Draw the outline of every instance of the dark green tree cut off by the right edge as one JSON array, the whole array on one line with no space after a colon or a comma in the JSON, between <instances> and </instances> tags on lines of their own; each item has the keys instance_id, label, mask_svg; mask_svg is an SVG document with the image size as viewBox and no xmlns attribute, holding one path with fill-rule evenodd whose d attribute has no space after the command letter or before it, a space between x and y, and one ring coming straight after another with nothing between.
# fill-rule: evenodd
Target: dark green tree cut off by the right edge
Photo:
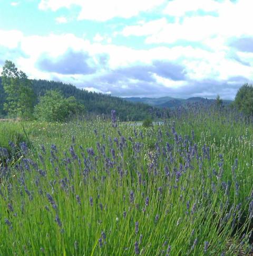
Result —
<instances>
[{"instance_id":1,"label":"dark green tree cut off by the right edge","mask_svg":"<svg viewBox=\"0 0 253 256\"><path fill-rule=\"evenodd\" d=\"M245 84L237 92L234 105L247 115L253 115L253 86Z\"/></svg>"}]
</instances>

